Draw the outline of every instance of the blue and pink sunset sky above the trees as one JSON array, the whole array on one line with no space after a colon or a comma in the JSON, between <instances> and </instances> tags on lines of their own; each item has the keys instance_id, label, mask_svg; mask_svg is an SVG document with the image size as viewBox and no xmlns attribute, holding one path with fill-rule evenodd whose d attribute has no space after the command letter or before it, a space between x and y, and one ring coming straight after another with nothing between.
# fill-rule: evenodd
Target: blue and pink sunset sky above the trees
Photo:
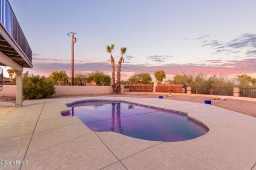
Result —
<instances>
[{"instance_id":1,"label":"blue and pink sunset sky above the trees","mask_svg":"<svg viewBox=\"0 0 256 170\"><path fill-rule=\"evenodd\" d=\"M110 74L106 45L115 44L116 63L127 47L123 79L162 69L167 78L256 77L256 1L9 1L33 50L30 73L70 73L67 33L74 31L76 72Z\"/></svg>"}]
</instances>

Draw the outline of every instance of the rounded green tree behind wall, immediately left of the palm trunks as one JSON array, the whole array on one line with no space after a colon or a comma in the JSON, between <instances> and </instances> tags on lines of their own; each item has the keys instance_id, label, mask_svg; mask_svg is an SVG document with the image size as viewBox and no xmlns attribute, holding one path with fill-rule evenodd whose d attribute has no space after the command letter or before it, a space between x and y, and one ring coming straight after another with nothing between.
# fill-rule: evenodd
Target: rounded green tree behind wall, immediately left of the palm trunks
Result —
<instances>
[{"instance_id":1,"label":"rounded green tree behind wall, immediately left of the palm trunks","mask_svg":"<svg viewBox=\"0 0 256 170\"><path fill-rule=\"evenodd\" d=\"M111 78L101 71L94 71L87 75L87 83L95 82L98 86L110 86Z\"/></svg>"}]
</instances>

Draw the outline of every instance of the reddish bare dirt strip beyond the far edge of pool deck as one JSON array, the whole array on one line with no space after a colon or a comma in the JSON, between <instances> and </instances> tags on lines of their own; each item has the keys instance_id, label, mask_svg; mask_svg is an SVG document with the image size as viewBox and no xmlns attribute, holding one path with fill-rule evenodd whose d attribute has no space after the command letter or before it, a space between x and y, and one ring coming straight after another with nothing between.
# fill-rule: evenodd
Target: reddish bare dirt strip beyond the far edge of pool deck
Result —
<instances>
[{"instance_id":1,"label":"reddish bare dirt strip beyond the far edge of pool deck","mask_svg":"<svg viewBox=\"0 0 256 170\"><path fill-rule=\"evenodd\" d=\"M84 97L90 97L91 95L87 95ZM94 95L95 96L95 95ZM99 95L102 96L102 95ZM158 95L141 95L141 94L122 94L122 95L104 95L104 96L116 96L116 97L141 97L141 98L158 98ZM58 98L66 98L66 97L82 97L82 96L63 96ZM172 100L182 100L182 101L192 101L196 103L204 103L204 100L210 99L212 100L212 105L229 109L231 111L243 113L246 115L256 117L256 101L245 101L245 100L234 100L234 99L226 99L226 100L218 100L209 97L191 97L191 96L163 96L165 99ZM55 97L56 98L56 97ZM15 98L13 97L0 97L0 101L9 101L15 102Z\"/></svg>"}]
</instances>

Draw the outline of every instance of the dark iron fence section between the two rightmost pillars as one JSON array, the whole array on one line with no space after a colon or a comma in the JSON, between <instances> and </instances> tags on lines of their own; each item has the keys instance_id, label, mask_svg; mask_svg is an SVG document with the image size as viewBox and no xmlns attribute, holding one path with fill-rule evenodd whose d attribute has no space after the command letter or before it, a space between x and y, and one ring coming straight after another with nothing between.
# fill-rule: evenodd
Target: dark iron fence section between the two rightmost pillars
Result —
<instances>
[{"instance_id":1,"label":"dark iron fence section between the two rightmost pillars","mask_svg":"<svg viewBox=\"0 0 256 170\"><path fill-rule=\"evenodd\" d=\"M191 94L233 96L233 87L191 87Z\"/></svg>"}]
</instances>

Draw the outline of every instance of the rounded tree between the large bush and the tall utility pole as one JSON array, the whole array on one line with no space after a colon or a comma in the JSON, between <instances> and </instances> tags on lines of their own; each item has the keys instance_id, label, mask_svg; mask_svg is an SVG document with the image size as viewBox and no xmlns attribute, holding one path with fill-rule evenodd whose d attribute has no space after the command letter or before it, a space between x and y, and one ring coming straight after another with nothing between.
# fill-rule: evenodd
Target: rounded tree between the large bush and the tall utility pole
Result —
<instances>
[{"instance_id":1,"label":"rounded tree between the large bush and the tall utility pole","mask_svg":"<svg viewBox=\"0 0 256 170\"><path fill-rule=\"evenodd\" d=\"M68 84L68 75L66 71L53 71L50 75L50 79L53 81L54 84L59 86L64 86Z\"/></svg>"}]
</instances>

